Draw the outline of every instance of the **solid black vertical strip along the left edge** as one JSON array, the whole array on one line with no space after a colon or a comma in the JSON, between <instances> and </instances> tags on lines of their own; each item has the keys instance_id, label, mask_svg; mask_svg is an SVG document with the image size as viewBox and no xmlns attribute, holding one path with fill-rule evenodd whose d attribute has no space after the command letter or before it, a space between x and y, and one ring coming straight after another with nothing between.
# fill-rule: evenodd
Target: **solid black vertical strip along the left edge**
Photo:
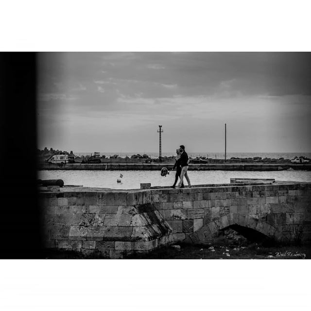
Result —
<instances>
[{"instance_id":1,"label":"solid black vertical strip along the left edge","mask_svg":"<svg viewBox=\"0 0 311 311\"><path fill-rule=\"evenodd\" d=\"M41 258L36 53L1 52L0 68L0 258Z\"/></svg>"}]
</instances>

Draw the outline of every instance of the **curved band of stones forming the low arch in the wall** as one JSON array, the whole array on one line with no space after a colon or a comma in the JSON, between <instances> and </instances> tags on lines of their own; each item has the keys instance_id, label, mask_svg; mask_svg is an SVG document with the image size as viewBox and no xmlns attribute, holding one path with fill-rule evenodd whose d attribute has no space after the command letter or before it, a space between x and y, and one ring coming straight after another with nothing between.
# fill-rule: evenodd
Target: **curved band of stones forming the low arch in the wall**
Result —
<instances>
[{"instance_id":1,"label":"curved band of stones forming the low arch in the wall","mask_svg":"<svg viewBox=\"0 0 311 311\"><path fill-rule=\"evenodd\" d=\"M264 221L249 215L229 213L210 221L200 229L191 233L183 242L194 244L207 243L208 240L216 236L219 230L222 230L230 225L240 225L242 227L250 228L275 240L279 240L281 237L280 232L275 227Z\"/></svg>"}]
</instances>

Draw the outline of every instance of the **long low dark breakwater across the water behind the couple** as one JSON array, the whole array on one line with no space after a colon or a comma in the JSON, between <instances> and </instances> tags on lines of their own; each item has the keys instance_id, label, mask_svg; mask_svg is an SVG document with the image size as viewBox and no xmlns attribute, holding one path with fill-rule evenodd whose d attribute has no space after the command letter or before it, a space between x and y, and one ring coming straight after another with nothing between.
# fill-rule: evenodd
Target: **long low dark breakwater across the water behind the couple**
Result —
<instances>
[{"instance_id":1,"label":"long low dark breakwater across the water behind the couple","mask_svg":"<svg viewBox=\"0 0 311 311\"><path fill-rule=\"evenodd\" d=\"M173 161L162 163L141 163L141 162L106 162L99 164L58 164L39 163L39 170L116 170L116 171L160 171L163 167L173 168ZM311 164L294 163L207 163L190 164L190 171L280 171L280 170L306 170L311 171Z\"/></svg>"}]
</instances>

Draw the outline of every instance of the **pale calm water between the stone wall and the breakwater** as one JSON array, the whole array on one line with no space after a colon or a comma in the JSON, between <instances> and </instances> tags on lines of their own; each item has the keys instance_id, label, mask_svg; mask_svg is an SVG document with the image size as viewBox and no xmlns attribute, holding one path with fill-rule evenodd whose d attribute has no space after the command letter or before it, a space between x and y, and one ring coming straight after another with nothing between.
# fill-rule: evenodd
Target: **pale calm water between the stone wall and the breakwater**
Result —
<instances>
[{"instance_id":1,"label":"pale calm water between the stone wall and the breakwater","mask_svg":"<svg viewBox=\"0 0 311 311\"><path fill-rule=\"evenodd\" d=\"M276 172L242 172L242 171L189 171L192 185L230 183L230 178L274 178L282 181L311 182L311 171L276 171ZM122 183L117 183L120 178ZM39 179L62 179L65 185L83 185L111 189L139 189L140 183L152 186L171 186L175 171L162 177L160 171L39 171ZM185 180L187 185L187 181Z\"/></svg>"}]
</instances>

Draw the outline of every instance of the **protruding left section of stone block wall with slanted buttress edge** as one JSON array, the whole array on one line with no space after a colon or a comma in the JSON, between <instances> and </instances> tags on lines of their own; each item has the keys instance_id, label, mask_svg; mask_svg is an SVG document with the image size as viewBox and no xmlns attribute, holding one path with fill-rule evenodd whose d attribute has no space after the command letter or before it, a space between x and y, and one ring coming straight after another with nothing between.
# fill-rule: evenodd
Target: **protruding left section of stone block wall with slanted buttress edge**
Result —
<instances>
[{"instance_id":1,"label":"protruding left section of stone block wall with slanted buttress edge","mask_svg":"<svg viewBox=\"0 0 311 311\"><path fill-rule=\"evenodd\" d=\"M173 242L150 191L42 192L45 248L122 258Z\"/></svg>"}]
</instances>

